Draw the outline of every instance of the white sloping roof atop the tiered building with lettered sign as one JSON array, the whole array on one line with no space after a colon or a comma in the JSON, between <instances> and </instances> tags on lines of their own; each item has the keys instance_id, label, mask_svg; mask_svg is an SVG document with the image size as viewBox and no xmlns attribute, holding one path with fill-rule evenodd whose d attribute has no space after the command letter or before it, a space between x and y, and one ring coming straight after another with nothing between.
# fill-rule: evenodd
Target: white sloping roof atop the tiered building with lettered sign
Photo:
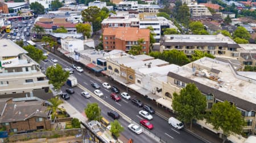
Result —
<instances>
[{"instance_id":1,"label":"white sloping roof atop the tiered building with lettered sign","mask_svg":"<svg viewBox=\"0 0 256 143\"><path fill-rule=\"evenodd\" d=\"M16 57L19 54L27 54L27 51L7 39L0 40L0 57Z\"/></svg>"}]
</instances>

